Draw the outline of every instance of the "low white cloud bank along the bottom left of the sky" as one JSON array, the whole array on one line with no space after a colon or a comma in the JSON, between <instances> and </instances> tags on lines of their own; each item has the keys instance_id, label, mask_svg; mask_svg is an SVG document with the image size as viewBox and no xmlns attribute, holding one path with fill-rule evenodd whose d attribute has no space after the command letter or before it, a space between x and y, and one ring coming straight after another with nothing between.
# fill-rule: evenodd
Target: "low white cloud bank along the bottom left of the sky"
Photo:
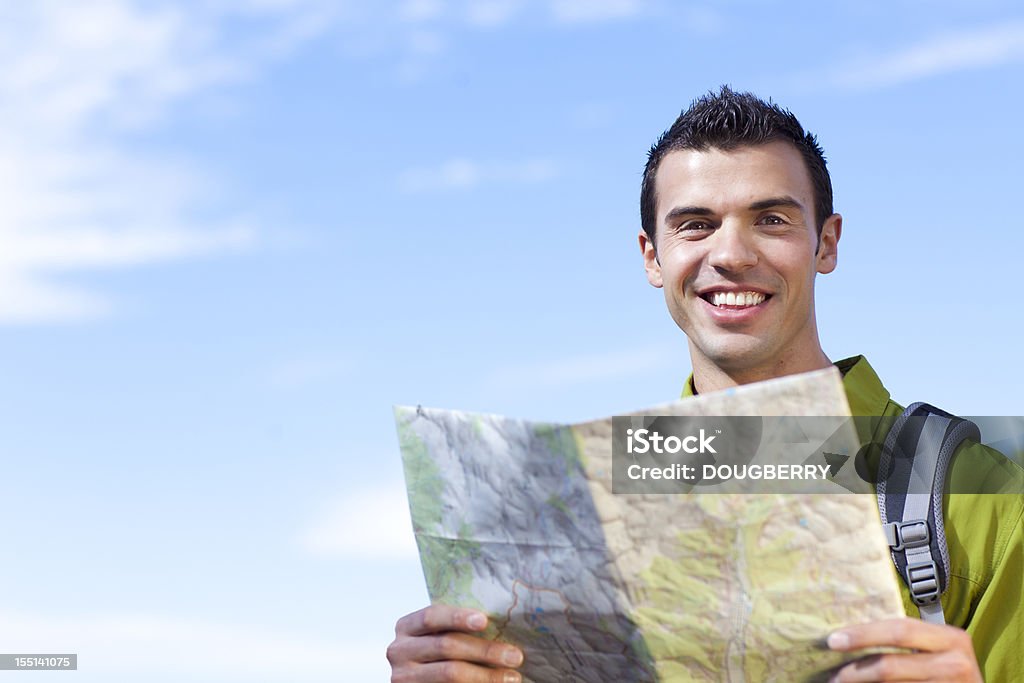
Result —
<instances>
[{"instance_id":1,"label":"low white cloud bank along the bottom left of the sky","mask_svg":"<svg viewBox=\"0 0 1024 683\"><path fill-rule=\"evenodd\" d=\"M77 653L79 679L88 680L347 681L386 672L376 641L150 614L0 612L0 642L12 652Z\"/></svg>"}]
</instances>

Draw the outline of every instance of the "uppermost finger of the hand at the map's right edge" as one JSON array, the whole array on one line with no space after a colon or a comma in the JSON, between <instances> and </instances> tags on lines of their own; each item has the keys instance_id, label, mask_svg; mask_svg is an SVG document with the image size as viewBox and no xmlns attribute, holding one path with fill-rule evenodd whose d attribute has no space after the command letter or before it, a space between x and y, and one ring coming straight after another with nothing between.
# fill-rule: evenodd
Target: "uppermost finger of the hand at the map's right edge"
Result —
<instances>
[{"instance_id":1,"label":"uppermost finger of the hand at the map's right edge","mask_svg":"<svg viewBox=\"0 0 1024 683\"><path fill-rule=\"evenodd\" d=\"M971 637L962 629L907 617L849 626L828 636L828 647L843 652L886 646L926 652L974 651Z\"/></svg>"}]
</instances>

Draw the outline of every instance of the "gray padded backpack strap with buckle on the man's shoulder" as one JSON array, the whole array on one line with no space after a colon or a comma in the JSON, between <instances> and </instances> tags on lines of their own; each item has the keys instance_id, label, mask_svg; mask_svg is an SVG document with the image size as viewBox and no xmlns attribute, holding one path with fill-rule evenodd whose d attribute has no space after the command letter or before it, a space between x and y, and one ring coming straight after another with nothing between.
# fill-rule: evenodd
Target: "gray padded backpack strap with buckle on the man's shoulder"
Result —
<instances>
[{"instance_id":1,"label":"gray padded backpack strap with buckle on the man's shoulder","mask_svg":"<svg viewBox=\"0 0 1024 683\"><path fill-rule=\"evenodd\" d=\"M939 596L949 584L942 492L953 453L981 441L978 426L913 403L889 430L879 461L879 513L899 575L926 622L944 624Z\"/></svg>"}]
</instances>

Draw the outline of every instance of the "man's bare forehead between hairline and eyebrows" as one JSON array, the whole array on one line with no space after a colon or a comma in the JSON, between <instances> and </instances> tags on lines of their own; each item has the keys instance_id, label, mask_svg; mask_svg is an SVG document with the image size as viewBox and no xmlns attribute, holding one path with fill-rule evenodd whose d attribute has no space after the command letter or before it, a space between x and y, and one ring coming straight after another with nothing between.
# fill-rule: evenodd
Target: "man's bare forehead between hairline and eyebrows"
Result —
<instances>
[{"instance_id":1,"label":"man's bare forehead between hairline and eyebrows","mask_svg":"<svg viewBox=\"0 0 1024 683\"><path fill-rule=\"evenodd\" d=\"M790 142L723 151L676 150L662 160L654 180L657 220L673 208L705 207L728 213L770 198L792 197L808 212L813 188L803 157Z\"/></svg>"}]
</instances>

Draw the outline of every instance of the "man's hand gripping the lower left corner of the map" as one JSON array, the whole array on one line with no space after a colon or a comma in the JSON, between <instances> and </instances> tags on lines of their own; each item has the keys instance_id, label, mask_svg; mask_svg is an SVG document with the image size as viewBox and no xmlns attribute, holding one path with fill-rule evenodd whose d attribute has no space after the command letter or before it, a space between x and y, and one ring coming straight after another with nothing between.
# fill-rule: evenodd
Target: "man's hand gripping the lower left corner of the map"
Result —
<instances>
[{"instance_id":1,"label":"man's hand gripping the lower left corner of the map","mask_svg":"<svg viewBox=\"0 0 1024 683\"><path fill-rule=\"evenodd\" d=\"M522 652L470 635L487 628L475 609L432 605L398 620L388 645L391 683L519 683Z\"/></svg>"}]
</instances>

